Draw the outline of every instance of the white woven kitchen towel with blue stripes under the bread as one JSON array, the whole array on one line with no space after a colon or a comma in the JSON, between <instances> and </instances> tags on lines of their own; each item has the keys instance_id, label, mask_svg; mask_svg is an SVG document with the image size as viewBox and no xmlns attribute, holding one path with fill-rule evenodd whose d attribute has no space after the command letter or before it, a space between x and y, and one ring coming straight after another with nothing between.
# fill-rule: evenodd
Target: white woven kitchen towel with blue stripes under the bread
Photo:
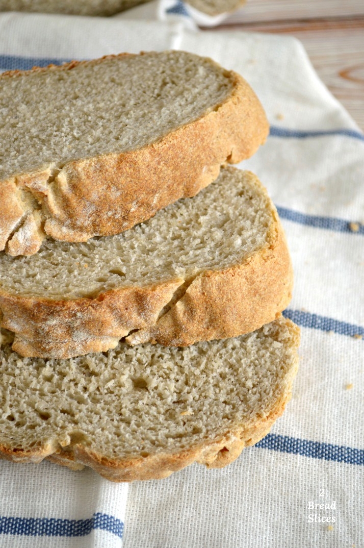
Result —
<instances>
[{"instance_id":1,"label":"white woven kitchen towel with blue stripes under the bread","mask_svg":"<svg viewBox=\"0 0 364 548\"><path fill-rule=\"evenodd\" d=\"M267 111L267 143L241 167L268 187L291 249L285 314L302 327L292 401L226 469L193 465L132 483L125 518L125 487L91 470L0 461L0 547L120 546L124 522L124 548L362 548L363 134L292 38L168 20L0 16L2 70L169 47L234 68Z\"/></svg>"}]
</instances>

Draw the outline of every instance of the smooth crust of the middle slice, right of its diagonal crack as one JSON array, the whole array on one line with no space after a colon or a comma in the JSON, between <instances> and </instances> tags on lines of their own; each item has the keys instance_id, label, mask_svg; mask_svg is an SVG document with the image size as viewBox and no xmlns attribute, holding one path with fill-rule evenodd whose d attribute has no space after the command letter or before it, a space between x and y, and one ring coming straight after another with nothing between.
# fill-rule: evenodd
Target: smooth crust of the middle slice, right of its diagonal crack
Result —
<instances>
[{"instance_id":1,"label":"smooth crust of the middle slice, right of its diagonal crack","mask_svg":"<svg viewBox=\"0 0 364 548\"><path fill-rule=\"evenodd\" d=\"M293 270L278 215L268 242L243 264L208 271L193 280L183 297L151 328L126 340L188 346L255 331L279 316L292 297Z\"/></svg>"}]
</instances>

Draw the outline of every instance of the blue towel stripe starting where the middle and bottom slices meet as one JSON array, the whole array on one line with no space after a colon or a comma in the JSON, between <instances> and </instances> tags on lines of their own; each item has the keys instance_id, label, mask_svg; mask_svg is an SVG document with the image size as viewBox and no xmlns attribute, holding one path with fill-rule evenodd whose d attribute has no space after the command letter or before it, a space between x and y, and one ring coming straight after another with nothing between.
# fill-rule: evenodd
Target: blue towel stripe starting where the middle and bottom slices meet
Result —
<instances>
[{"instance_id":1,"label":"blue towel stripe starting where the middle and bottom slices meet","mask_svg":"<svg viewBox=\"0 0 364 548\"><path fill-rule=\"evenodd\" d=\"M283 315L301 327L320 329L321 331L333 331L339 335L349 337L358 335L364 338L364 327L355 326L353 323L340 322L338 319L319 316L318 314L303 312L301 310L286 309Z\"/></svg>"}]
</instances>

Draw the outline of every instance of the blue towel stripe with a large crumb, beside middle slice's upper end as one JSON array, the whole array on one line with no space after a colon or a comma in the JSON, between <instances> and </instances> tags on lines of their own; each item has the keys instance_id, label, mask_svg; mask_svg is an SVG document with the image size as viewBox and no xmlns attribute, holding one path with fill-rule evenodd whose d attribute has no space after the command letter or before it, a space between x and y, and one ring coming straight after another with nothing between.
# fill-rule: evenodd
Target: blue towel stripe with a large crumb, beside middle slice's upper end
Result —
<instances>
[{"instance_id":1,"label":"blue towel stripe with a large crumb, beside middle slice's upper end","mask_svg":"<svg viewBox=\"0 0 364 548\"><path fill-rule=\"evenodd\" d=\"M364 225L360 222L346 221L345 219L338 219L336 217L307 215L279 206L276 206L276 208L281 219L297 222L300 225L313 226L316 229L333 230L335 232L364 235Z\"/></svg>"}]
</instances>

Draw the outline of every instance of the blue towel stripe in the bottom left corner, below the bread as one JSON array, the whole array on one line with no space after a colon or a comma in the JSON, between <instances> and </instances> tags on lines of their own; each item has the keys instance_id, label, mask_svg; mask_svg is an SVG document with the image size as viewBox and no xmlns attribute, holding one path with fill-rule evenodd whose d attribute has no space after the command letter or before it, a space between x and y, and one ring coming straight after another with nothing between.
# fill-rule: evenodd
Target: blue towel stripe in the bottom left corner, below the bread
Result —
<instances>
[{"instance_id":1,"label":"blue towel stripe in the bottom left corner, below the bread","mask_svg":"<svg viewBox=\"0 0 364 548\"><path fill-rule=\"evenodd\" d=\"M0 516L0 534L25 536L86 536L93 529L103 529L123 538L124 523L100 512L88 520L61 518L25 518Z\"/></svg>"}]
</instances>

